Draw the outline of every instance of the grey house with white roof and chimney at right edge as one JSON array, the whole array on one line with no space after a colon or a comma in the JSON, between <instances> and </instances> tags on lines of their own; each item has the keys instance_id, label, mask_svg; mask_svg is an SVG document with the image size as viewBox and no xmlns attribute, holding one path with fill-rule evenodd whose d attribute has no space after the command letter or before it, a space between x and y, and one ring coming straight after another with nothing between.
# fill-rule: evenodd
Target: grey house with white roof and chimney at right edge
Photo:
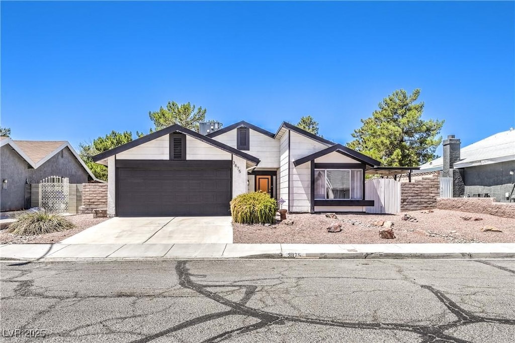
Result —
<instances>
[{"instance_id":1,"label":"grey house with white roof and chimney at right edge","mask_svg":"<svg viewBox=\"0 0 515 343\"><path fill-rule=\"evenodd\" d=\"M453 178L453 196L495 198L508 202L515 196L515 130L499 132L460 148L450 135L443 141L443 156L420 166L420 173L440 171ZM513 201L513 200L511 200Z\"/></svg>"}]
</instances>

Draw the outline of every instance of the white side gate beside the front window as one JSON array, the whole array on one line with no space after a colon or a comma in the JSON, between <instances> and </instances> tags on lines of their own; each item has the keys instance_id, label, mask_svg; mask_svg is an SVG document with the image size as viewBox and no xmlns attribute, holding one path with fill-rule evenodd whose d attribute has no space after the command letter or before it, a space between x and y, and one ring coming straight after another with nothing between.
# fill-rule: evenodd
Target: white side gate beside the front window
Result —
<instances>
[{"instance_id":1,"label":"white side gate beside the front window","mask_svg":"<svg viewBox=\"0 0 515 343\"><path fill-rule=\"evenodd\" d=\"M374 200L367 213L401 212L401 183L393 179L371 179L365 182L365 199Z\"/></svg>"}]
</instances>

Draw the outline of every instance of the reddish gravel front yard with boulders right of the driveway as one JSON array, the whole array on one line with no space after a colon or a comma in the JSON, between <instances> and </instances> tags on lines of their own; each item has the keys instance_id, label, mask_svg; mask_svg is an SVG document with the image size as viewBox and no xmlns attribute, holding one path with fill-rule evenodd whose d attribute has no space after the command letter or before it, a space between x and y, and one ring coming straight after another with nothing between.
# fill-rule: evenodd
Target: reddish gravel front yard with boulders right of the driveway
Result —
<instances>
[{"instance_id":1,"label":"reddish gravel front yard with boulders right of the driveway","mask_svg":"<svg viewBox=\"0 0 515 343\"><path fill-rule=\"evenodd\" d=\"M285 222L271 226L233 223L234 243L329 243L329 244L382 244L382 243L515 243L515 220L484 213L447 210L403 212L397 215L362 213L337 214L337 219L325 214L288 214ZM416 221L402 220L404 214ZM461 217L471 217L464 220ZM482 218L482 220L473 220ZM382 239L373 221L393 222L394 239ZM341 223L340 232L328 232L327 227ZM502 232L481 231L490 226Z\"/></svg>"}]
</instances>

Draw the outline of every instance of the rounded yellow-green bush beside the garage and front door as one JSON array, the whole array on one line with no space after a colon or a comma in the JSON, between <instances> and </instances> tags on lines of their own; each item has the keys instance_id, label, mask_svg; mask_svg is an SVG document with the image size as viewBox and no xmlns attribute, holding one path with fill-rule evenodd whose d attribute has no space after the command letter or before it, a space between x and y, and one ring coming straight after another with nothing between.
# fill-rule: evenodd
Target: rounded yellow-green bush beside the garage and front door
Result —
<instances>
[{"instance_id":1,"label":"rounded yellow-green bush beside the garage and front door","mask_svg":"<svg viewBox=\"0 0 515 343\"><path fill-rule=\"evenodd\" d=\"M241 224L273 224L277 201L261 191L240 194L231 200L232 220Z\"/></svg>"}]
</instances>

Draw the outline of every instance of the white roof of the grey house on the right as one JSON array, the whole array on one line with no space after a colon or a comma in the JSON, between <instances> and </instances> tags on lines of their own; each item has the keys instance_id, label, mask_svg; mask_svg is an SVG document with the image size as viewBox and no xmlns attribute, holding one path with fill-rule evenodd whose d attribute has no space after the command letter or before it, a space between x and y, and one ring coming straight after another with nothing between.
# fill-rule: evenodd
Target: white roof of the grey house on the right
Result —
<instances>
[{"instance_id":1,"label":"white roof of the grey house on the right","mask_svg":"<svg viewBox=\"0 0 515 343\"><path fill-rule=\"evenodd\" d=\"M515 160L515 130L508 130L491 135L460 149L460 160L455 168ZM443 169L443 157L424 163L420 171Z\"/></svg>"}]
</instances>

